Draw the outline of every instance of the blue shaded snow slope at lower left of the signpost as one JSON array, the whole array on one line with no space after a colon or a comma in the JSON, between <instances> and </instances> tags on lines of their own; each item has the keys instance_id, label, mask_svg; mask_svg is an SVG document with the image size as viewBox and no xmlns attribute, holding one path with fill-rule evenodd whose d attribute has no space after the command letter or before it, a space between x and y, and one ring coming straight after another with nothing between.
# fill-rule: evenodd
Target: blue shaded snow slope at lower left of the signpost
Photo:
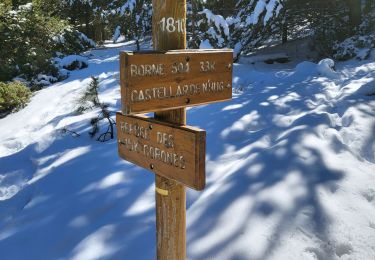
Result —
<instances>
[{"instance_id":1,"label":"blue shaded snow slope at lower left of the signpost","mask_svg":"<svg viewBox=\"0 0 375 260\"><path fill-rule=\"evenodd\" d=\"M155 247L154 176L120 161L114 141L67 137L42 153L31 145L0 158L6 172L20 163L33 174L23 176L28 182L14 197L0 201L4 259L135 258L143 246ZM154 250L144 256L153 258Z\"/></svg>"}]
</instances>

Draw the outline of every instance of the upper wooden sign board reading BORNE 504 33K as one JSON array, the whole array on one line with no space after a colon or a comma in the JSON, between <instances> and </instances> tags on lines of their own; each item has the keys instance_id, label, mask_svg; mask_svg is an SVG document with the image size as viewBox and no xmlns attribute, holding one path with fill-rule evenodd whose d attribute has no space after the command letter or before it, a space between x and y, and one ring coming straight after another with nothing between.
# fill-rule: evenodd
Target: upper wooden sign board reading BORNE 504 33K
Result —
<instances>
[{"instance_id":1,"label":"upper wooden sign board reading BORNE 504 33K","mask_svg":"<svg viewBox=\"0 0 375 260\"><path fill-rule=\"evenodd\" d=\"M122 52L120 59L124 114L232 98L232 50Z\"/></svg>"}]
</instances>

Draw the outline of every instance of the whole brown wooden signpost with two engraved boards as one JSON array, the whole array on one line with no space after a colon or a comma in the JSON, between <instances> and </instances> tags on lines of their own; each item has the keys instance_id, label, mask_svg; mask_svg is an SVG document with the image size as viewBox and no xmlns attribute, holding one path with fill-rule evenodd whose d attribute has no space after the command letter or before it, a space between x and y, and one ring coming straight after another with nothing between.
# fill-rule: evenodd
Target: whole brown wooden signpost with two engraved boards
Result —
<instances>
[{"instance_id":1,"label":"whole brown wooden signpost with two engraved boards","mask_svg":"<svg viewBox=\"0 0 375 260\"><path fill-rule=\"evenodd\" d=\"M118 149L155 173L157 259L185 259L185 187L204 189L206 148L206 132L186 126L186 107L232 98L233 52L184 50L186 0L152 4L155 51L120 54ZM154 119L136 115L146 112Z\"/></svg>"}]
</instances>

